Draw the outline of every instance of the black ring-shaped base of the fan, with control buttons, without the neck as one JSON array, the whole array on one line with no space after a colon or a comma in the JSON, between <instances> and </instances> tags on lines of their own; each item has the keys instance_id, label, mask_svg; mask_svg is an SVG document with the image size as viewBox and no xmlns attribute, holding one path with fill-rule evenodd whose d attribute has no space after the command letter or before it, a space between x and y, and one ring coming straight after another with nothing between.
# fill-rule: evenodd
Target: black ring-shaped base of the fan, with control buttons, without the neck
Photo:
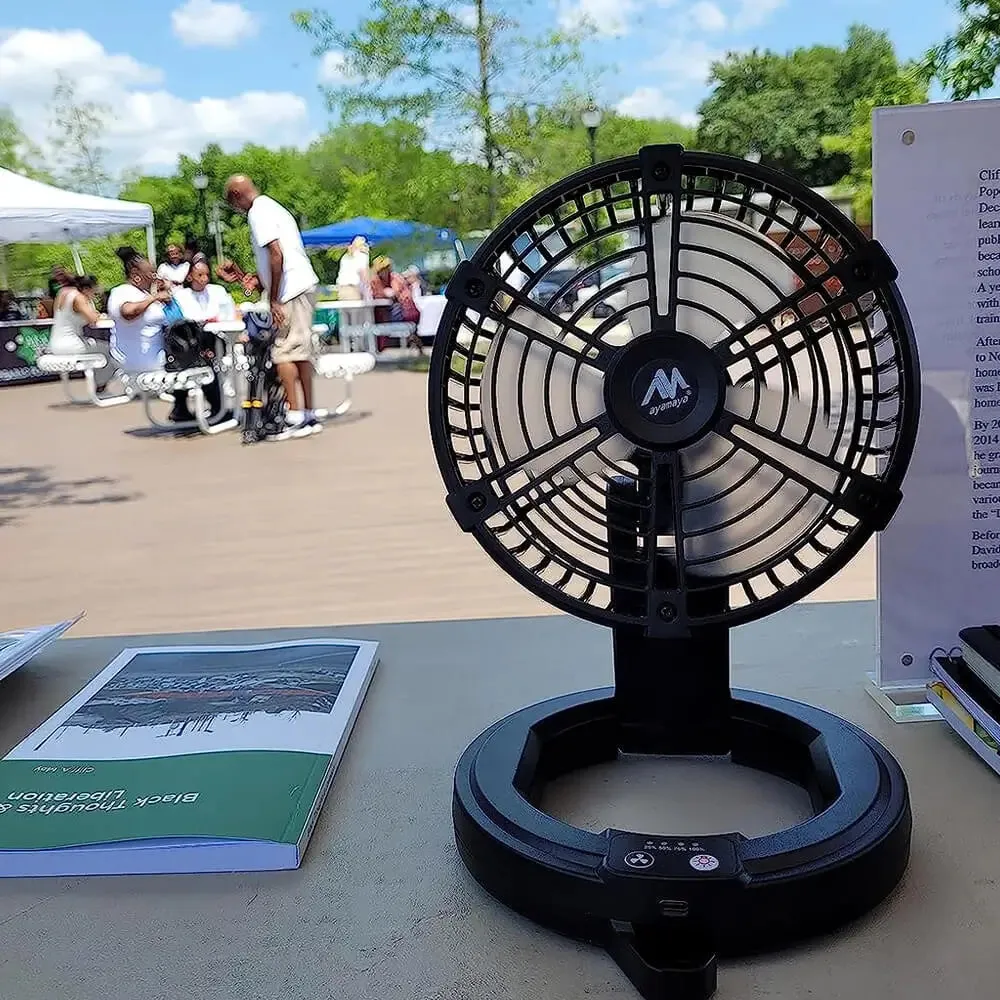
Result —
<instances>
[{"instance_id":1,"label":"black ring-shaped base of the fan, with control buttons, without the neck","mask_svg":"<svg viewBox=\"0 0 1000 1000\"><path fill-rule=\"evenodd\" d=\"M592 833L532 805L542 786L618 755L614 689L522 709L455 774L459 853L491 895L606 948L646 1000L704 1000L716 956L774 950L866 913L910 850L906 779L867 733L784 698L733 692L731 758L802 785L816 815L748 839Z\"/></svg>"}]
</instances>

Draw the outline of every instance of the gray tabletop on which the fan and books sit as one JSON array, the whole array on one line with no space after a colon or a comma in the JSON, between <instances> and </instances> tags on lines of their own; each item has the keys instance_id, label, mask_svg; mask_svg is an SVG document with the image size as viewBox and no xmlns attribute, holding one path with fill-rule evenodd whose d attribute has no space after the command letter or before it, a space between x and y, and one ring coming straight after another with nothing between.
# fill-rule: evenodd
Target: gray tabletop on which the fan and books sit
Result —
<instances>
[{"instance_id":1,"label":"gray tabletop on which the fan and books sit","mask_svg":"<svg viewBox=\"0 0 1000 1000\"><path fill-rule=\"evenodd\" d=\"M452 841L455 762L529 702L610 683L606 631L517 620L64 639L0 685L6 752L120 649L341 635L381 666L298 871L0 883L3 1000L589 1000L635 993L600 950L487 897ZM720 967L719 1000L961 1000L996 993L1000 782L939 722L894 725L863 691L874 606L815 604L737 630L734 682L864 726L903 764L914 809L902 886L869 917ZM554 787L575 822L748 834L793 822L800 793L753 772L598 769Z\"/></svg>"}]
</instances>

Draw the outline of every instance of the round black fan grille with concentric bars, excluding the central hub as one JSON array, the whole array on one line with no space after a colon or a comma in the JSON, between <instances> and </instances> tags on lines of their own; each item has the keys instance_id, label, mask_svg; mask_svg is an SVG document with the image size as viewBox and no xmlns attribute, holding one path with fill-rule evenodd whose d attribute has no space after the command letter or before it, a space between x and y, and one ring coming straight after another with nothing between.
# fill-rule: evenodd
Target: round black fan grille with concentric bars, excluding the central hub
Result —
<instances>
[{"instance_id":1,"label":"round black fan grille with concentric bars, excluding the central hub","mask_svg":"<svg viewBox=\"0 0 1000 1000\"><path fill-rule=\"evenodd\" d=\"M760 309L715 276L746 263L686 242L689 221L701 233L752 227L798 287L753 275L773 299ZM657 225L671 227L667 267ZM566 305L609 270L616 280ZM738 624L800 599L898 502L919 377L894 278L842 213L760 165L649 147L568 178L507 219L449 287L430 373L449 506L528 589L592 621ZM701 294L713 284L728 312ZM622 344L664 321L711 327L730 386L696 453L623 448L607 413L584 405ZM508 363L505 343L520 348ZM523 379L531 352L541 392ZM563 413L550 405L556 378L571 387ZM499 413L500 393L516 398L513 418ZM788 520L769 525L778 491ZM635 538L624 555L616 532Z\"/></svg>"}]
</instances>

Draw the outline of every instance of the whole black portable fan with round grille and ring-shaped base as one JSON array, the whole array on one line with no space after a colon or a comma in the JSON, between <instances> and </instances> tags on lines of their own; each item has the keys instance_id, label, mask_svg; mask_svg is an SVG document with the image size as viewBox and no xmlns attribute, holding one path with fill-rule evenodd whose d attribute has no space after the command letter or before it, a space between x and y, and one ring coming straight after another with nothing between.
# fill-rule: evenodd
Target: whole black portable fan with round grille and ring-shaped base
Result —
<instances>
[{"instance_id":1,"label":"whole black portable fan with round grille and ring-shaped base","mask_svg":"<svg viewBox=\"0 0 1000 1000\"><path fill-rule=\"evenodd\" d=\"M730 627L829 579L901 499L919 374L895 279L792 178L656 146L535 197L449 284L430 370L448 505L529 590L611 627L615 679L469 746L458 848L644 997L708 997L716 956L840 926L906 868L892 756L729 681ZM619 754L729 756L804 786L815 815L681 838L537 807L545 782Z\"/></svg>"}]
</instances>

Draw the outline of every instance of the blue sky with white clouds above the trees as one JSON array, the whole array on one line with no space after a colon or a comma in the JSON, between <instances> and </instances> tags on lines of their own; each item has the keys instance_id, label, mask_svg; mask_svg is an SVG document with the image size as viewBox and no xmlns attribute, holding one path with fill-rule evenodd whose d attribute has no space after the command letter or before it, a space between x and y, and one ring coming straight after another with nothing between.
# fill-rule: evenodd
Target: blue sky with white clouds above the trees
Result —
<instances>
[{"instance_id":1,"label":"blue sky with white clouds above the trees","mask_svg":"<svg viewBox=\"0 0 1000 1000\"><path fill-rule=\"evenodd\" d=\"M306 3L323 0L306 0ZM322 95L338 53L320 58L291 23L288 0L0 0L0 104L43 148L59 74L81 100L112 110L105 146L115 170L166 173L208 142L305 145L330 123ZM328 0L350 28L366 0ZM695 120L712 60L754 47L784 52L843 44L848 26L889 32L919 56L956 23L952 0L533 0L538 29L597 29L588 61L610 67L604 107Z\"/></svg>"}]
</instances>

